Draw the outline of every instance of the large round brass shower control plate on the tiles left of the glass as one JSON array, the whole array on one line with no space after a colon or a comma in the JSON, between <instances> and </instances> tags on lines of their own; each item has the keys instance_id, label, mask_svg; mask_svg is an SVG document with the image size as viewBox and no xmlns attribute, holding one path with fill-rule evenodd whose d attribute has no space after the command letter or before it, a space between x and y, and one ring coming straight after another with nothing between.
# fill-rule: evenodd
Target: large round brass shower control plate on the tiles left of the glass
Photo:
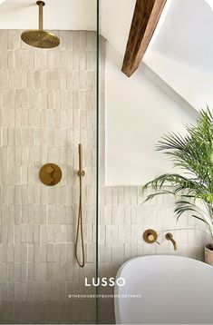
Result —
<instances>
[{"instance_id":1,"label":"large round brass shower control plate on the tiles left of the glass","mask_svg":"<svg viewBox=\"0 0 213 325\"><path fill-rule=\"evenodd\" d=\"M58 182L61 181L63 176L63 172L61 168L56 165L55 163L46 163L40 169L39 178L40 181L47 186L56 185Z\"/></svg>"}]
</instances>

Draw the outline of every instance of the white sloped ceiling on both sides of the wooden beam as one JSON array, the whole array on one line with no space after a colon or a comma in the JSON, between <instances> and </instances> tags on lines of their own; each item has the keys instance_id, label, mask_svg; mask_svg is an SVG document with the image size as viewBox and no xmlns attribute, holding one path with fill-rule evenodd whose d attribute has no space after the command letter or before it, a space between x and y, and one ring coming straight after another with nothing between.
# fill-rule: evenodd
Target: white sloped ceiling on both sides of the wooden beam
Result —
<instances>
[{"instance_id":1,"label":"white sloped ceiling on both sides of the wooden beam","mask_svg":"<svg viewBox=\"0 0 213 325\"><path fill-rule=\"evenodd\" d=\"M121 55L135 3L102 0L102 35ZM150 68L152 81L163 83L168 94L178 94L190 110L213 106L212 57L213 0L167 0L142 62Z\"/></svg>"}]
</instances>

